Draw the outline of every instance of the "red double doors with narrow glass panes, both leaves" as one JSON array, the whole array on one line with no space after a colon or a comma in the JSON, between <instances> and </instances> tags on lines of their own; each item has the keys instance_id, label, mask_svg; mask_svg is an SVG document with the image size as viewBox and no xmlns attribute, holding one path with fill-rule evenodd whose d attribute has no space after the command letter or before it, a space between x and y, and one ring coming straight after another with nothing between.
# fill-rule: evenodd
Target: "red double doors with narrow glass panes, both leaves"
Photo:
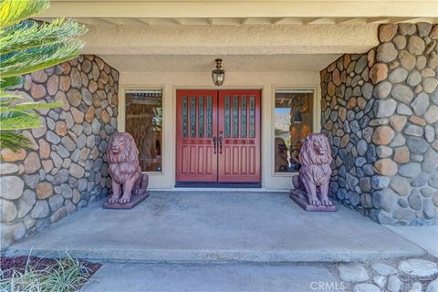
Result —
<instances>
[{"instance_id":1,"label":"red double doors with narrow glass panes, both leaves","mask_svg":"<svg viewBox=\"0 0 438 292\"><path fill-rule=\"evenodd\" d=\"M176 181L260 183L260 90L178 90Z\"/></svg>"}]
</instances>

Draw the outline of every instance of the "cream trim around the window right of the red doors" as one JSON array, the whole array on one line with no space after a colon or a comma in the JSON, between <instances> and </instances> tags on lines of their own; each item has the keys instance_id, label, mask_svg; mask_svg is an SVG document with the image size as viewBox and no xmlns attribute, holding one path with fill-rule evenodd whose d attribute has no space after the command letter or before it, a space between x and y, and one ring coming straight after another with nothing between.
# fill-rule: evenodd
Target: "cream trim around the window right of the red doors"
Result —
<instances>
[{"instance_id":1,"label":"cream trim around the window right of the red doors","mask_svg":"<svg viewBox=\"0 0 438 292\"><path fill-rule=\"evenodd\" d=\"M293 85L293 86L287 86L287 85L273 85L272 86L272 98L271 98L271 121L270 121L270 137L271 140L271 165L270 167L270 173L271 177L292 177L294 175L297 175L298 172L276 172L274 164L276 162L276 153L275 153L275 124L276 124L276 91L277 90L287 90L292 92L301 92L303 90L312 90L313 92L313 102L312 102L312 132L319 132L321 130L320 125L320 117L321 117L321 99L320 99L320 92L318 87L315 85ZM308 91L306 91L308 92Z\"/></svg>"}]
</instances>

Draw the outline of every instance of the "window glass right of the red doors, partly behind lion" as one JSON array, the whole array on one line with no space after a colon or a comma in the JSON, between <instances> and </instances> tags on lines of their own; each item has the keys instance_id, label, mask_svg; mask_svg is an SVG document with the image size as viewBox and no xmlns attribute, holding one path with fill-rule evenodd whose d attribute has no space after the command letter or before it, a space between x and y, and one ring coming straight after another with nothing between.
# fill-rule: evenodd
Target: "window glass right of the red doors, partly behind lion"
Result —
<instances>
[{"instance_id":1,"label":"window glass right of the red doors, partly behind lion","mask_svg":"<svg viewBox=\"0 0 438 292\"><path fill-rule=\"evenodd\" d=\"M274 109L275 172L297 172L298 154L303 140L313 128L313 97L311 89L277 89Z\"/></svg>"}]
</instances>

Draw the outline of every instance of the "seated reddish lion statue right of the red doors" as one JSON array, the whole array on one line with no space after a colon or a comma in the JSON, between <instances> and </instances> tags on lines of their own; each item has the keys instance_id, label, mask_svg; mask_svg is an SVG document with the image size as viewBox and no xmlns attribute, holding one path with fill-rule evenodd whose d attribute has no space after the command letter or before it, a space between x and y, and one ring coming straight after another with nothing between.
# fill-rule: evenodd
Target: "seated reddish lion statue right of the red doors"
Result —
<instances>
[{"instance_id":1,"label":"seated reddish lion statue right of the red doors","mask_svg":"<svg viewBox=\"0 0 438 292\"><path fill-rule=\"evenodd\" d=\"M331 150L324 134L309 134L299 151L301 168L292 183L297 190L306 193L311 205L331 206L328 200L328 184L330 183Z\"/></svg>"}]
</instances>

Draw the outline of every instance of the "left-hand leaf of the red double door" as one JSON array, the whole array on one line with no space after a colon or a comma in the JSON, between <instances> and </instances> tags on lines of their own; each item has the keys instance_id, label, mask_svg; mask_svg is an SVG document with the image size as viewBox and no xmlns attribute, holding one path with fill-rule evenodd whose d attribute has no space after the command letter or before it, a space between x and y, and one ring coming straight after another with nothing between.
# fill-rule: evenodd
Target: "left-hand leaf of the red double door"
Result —
<instances>
[{"instance_id":1,"label":"left-hand leaf of the red double door","mask_svg":"<svg viewBox=\"0 0 438 292\"><path fill-rule=\"evenodd\" d=\"M178 90L176 181L217 182L217 91Z\"/></svg>"}]
</instances>

